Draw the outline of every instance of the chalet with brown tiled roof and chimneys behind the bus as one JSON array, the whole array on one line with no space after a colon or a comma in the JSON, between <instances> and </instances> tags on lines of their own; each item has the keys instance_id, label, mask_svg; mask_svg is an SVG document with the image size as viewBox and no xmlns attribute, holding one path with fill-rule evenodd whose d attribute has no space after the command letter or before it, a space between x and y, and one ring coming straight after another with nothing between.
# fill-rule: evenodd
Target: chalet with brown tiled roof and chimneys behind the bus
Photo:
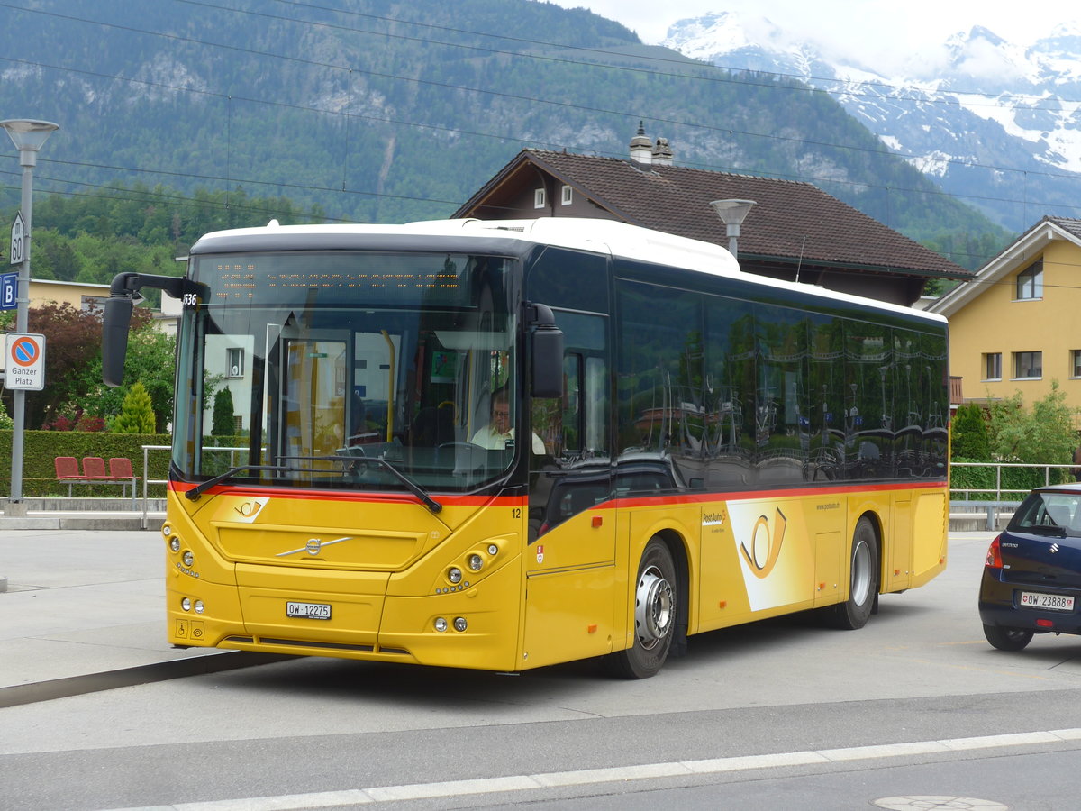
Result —
<instances>
[{"instance_id":1,"label":"chalet with brown tiled roof and chimneys behind the bus","mask_svg":"<svg viewBox=\"0 0 1081 811\"><path fill-rule=\"evenodd\" d=\"M617 220L731 250L718 200L755 202L738 226L749 272L906 306L929 279L973 276L810 183L676 165L668 142L641 127L628 159L523 149L454 216Z\"/></svg>"}]
</instances>

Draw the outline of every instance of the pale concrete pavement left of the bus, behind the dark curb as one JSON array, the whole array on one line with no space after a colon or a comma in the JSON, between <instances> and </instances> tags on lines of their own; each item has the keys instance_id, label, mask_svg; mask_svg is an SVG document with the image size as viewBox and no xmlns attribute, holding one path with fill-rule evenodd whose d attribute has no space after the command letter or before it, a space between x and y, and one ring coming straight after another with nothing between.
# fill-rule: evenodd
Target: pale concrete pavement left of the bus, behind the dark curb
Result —
<instances>
[{"instance_id":1,"label":"pale concrete pavement left of the bus, behind the dark curb","mask_svg":"<svg viewBox=\"0 0 1081 811\"><path fill-rule=\"evenodd\" d=\"M163 513L25 504L0 516L0 707L281 659L165 641Z\"/></svg>"}]
</instances>

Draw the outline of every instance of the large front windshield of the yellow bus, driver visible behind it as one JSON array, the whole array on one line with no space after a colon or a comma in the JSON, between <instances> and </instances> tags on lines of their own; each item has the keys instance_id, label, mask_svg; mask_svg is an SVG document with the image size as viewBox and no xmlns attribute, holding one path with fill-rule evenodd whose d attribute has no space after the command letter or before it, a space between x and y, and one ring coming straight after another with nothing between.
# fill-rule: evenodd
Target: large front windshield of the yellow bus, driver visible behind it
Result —
<instances>
[{"instance_id":1,"label":"large front windshield of the yellow bus, driver visible behind it","mask_svg":"<svg viewBox=\"0 0 1081 811\"><path fill-rule=\"evenodd\" d=\"M425 492L496 480L515 456L515 266L445 253L193 257L179 476Z\"/></svg>"}]
</instances>

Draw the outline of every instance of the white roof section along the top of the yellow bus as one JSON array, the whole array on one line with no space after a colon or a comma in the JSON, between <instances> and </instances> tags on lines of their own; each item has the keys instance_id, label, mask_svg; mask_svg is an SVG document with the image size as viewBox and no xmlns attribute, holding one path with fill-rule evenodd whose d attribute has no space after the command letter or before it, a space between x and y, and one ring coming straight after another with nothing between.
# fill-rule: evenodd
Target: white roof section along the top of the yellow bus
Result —
<instances>
[{"instance_id":1,"label":"white roof section along the top of the yellow bus","mask_svg":"<svg viewBox=\"0 0 1081 811\"><path fill-rule=\"evenodd\" d=\"M219 237L259 236L271 234L400 234L430 236L484 236L506 237L508 240L524 240L557 248L574 248L595 253L606 253L639 262L697 270L712 276L721 276L742 281L752 281L762 287L778 290L798 289L829 302L849 302L865 307L873 307L892 313L916 316L925 321L945 323L946 318L934 313L905 307L899 304L875 298L826 290L815 284L770 279L765 276L745 274L735 257L724 248L712 242L678 237L673 234L641 228L637 225L619 223L615 220L591 220L588 217L537 217L536 220L429 220L404 225L278 225L278 221L259 228L236 228L214 231L199 241Z\"/></svg>"}]
</instances>

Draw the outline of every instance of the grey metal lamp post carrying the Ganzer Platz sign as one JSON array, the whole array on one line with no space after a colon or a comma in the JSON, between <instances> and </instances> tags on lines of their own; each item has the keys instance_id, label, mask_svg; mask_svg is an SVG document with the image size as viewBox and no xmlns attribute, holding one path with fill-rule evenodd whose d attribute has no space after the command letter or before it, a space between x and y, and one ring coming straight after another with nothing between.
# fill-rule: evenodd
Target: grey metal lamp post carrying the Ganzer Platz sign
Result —
<instances>
[{"instance_id":1,"label":"grey metal lamp post carrying the Ganzer Platz sign","mask_svg":"<svg viewBox=\"0 0 1081 811\"><path fill-rule=\"evenodd\" d=\"M12 143L18 149L18 162L23 167L23 262L18 269L18 285L15 293L15 331L26 332L30 317L30 231L34 220L34 167L38 163L38 150L59 125L52 121L29 119L8 119L0 121L8 131ZM16 388L12 404L14 430L11 436L11 494L8 498L8 515L26 515L23 506L23 430L26 417L26 391Z\"/></svg>"}]
</instances>

